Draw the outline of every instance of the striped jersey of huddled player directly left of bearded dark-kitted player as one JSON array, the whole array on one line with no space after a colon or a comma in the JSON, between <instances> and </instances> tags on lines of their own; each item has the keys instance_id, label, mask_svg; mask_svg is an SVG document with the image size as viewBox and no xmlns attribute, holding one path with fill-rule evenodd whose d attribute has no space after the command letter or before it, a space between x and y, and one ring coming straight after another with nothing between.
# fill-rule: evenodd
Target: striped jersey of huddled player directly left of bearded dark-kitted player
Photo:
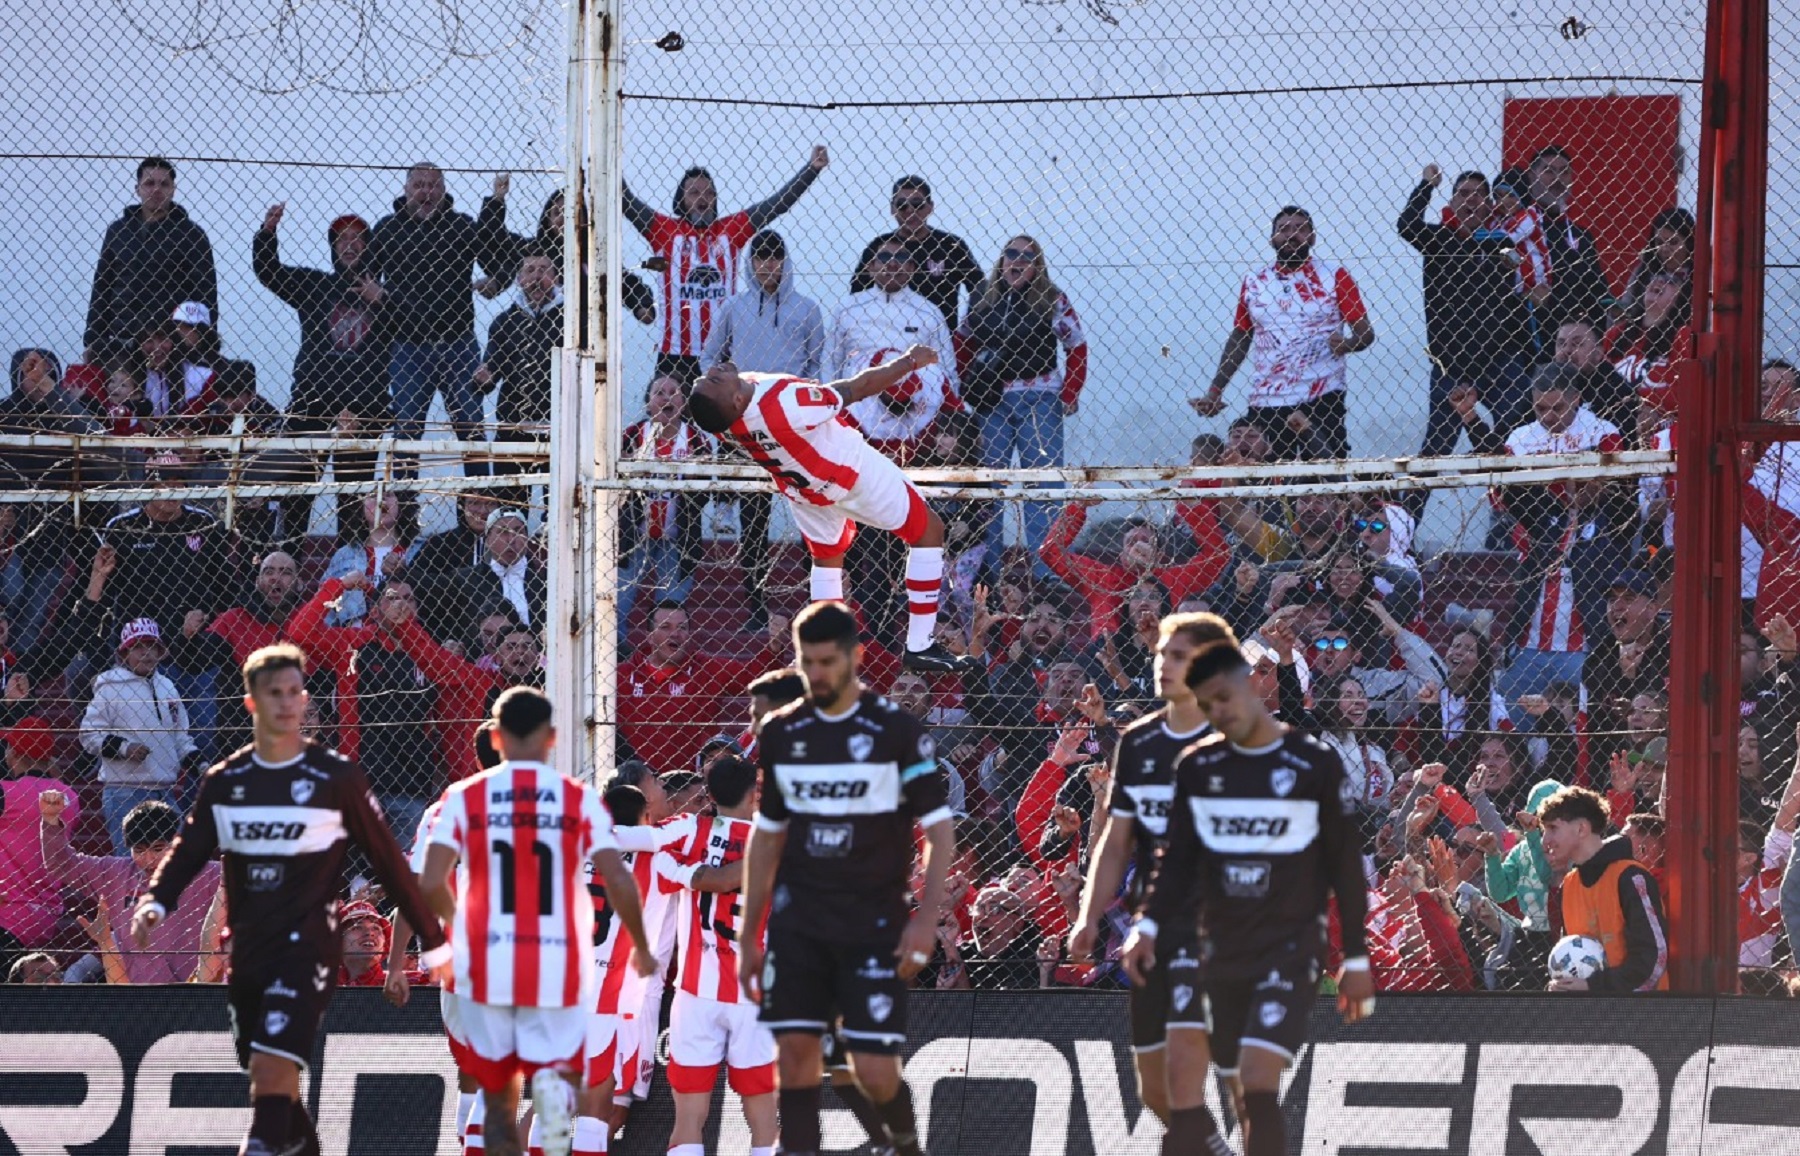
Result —
<instances>
[{"instance_id":1,"label":"striped jersey of huddled player directly left of bearded dark-kitted player","mask_svg":"<svg viewBox=\"0 0 1800 1156\"><path fill-rule=\"evenodd\" d=\"M738 935L743 897L738 891L695 891L686 886L698 866L736 862L751 841L749 819L700 816L693 837L657 853L657 886L677 895L680 990L718 1003L742 1003ZM765 929L758 929L761 936Z\"/></svg>"}]
</instances>

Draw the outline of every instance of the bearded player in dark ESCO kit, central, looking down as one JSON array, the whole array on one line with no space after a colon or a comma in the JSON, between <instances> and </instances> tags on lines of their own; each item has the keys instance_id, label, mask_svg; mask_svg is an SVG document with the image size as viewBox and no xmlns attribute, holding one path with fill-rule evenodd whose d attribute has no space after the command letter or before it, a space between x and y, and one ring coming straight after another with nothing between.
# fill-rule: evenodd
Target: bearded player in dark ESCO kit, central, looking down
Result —
<instances>
[{"instance_id":1,"label":"bearded player in dark ESCO kit, central, looking down","mask_svg":"<svg viewBox=\"0 0 1800 1156\"><path fill-rule=\"evenodd\" d=\"M776 1034L783 1152L819 1151L821 1037L842 1017L857 1084L895 1151L918 1156L900 1050L907 985L931 962L956 855L949 785L925 726L864 690L844 603L801 610L794 648L806 699L763 724L763 789L743 861L743 926L767 918L769 949L765 958L760 944L740 944L738 978ZM909 913L914 823L925 882Z\"/></svg>"}]
</instances>

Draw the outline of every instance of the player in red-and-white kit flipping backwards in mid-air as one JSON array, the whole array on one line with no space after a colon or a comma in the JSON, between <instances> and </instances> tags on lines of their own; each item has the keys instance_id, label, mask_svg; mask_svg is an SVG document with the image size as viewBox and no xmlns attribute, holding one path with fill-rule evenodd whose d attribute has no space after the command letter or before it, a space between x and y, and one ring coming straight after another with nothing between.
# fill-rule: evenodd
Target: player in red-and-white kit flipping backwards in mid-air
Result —
<instances>
[{"instance_id":1,"label":"player in red-and-white kit flipping backwards in mid-air","mask_svg":"<svg viewBox=\"0 0 1800 1156\"><path fill-rule=\"evenodd\" d=\"M907 670L974 670L936 639L943 587L943 522L893 461L864 439L846 411L938 362L931 346L841 382L819 384L774 373L738 373L720 362L695 382L688 412L707 434L731 441L769 470L812 555L812 598L844 596L844 555L857 526L891 529L911 549L905 562Z\"/></svg>"}]
</instances>

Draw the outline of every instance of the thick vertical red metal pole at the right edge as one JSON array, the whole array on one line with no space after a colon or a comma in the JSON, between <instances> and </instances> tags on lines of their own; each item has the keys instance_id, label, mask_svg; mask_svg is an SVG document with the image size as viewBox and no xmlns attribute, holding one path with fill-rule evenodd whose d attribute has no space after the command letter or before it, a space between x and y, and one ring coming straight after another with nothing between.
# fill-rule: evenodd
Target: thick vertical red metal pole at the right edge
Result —
<instances>
[{"instance_id":1,"label":"thick vertical red metal pole at the right edge","mask_svg":"<svg viewBox=\"0 0 1800 1156\"><path fill-rule=\"evenodd\" d=\"M1768 202L1768 0L1708 7L1669 679L1670 978L1694 994L1737 990L1739 439L1759 416Z\"/></svg>"}]
</instances>

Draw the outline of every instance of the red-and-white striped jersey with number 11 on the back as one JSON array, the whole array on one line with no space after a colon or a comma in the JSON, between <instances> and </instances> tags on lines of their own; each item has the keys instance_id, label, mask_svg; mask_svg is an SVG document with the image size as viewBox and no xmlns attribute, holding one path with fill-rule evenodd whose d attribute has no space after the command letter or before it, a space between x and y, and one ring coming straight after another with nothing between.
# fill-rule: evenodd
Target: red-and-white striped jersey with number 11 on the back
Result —
<instances>
[{"instance_id":1,"label":"red-and-white striped jersey with number 11 on the back","mask_svg":"<svg viewBox=\"0 0 1800 1156\"><path fill-rule=\"evenodd\" d=\"M500 763L445 792L432 843L461 859L457 992L490 1007L589 1007L594 904L581 864L617 846L599 794L545 763Z\"/></svg>"}]
</instances>

